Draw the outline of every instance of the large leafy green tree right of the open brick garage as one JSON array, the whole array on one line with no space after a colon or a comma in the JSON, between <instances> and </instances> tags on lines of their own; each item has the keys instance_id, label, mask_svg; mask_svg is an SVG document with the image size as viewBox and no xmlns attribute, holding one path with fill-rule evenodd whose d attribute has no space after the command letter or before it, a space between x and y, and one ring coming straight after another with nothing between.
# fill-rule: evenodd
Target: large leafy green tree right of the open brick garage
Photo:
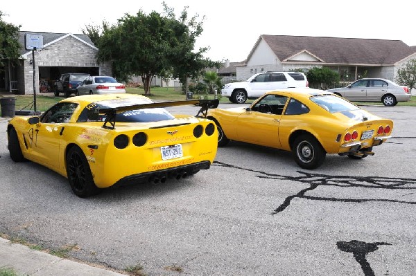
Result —
<instances>
[{"instance_id":1,"label":"large leafy green tree right of the open brick garage","mask_svg":"<svg viewBox=\"0 0 416 276\"><path fill-rule=\"evenodd\" d=\"M163 2L165 15L139 10L135 16L126 14L114 26L103 22L103 28L87 26L87 33L98 47L98 62L112 62L114 76L127 81L138 75L145 94L156 75L187 80L216 64L202 57L207 48L194 53L196 37L202 32L202 22L187 17L187 7L180 19ZM102 33L101 33L102 31ZM85 31L84 31L85 33ZM101 33L101 35L99 35Z\"/></svg>"}]
</instances>

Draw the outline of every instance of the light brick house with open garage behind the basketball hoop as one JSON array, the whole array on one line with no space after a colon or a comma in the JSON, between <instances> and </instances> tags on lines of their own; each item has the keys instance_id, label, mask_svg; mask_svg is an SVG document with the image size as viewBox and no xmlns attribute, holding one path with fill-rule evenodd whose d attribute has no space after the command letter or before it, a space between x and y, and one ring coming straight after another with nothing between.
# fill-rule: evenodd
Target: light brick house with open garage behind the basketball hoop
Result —
<instances>
[{"instance_id":1,"label":"light brick house with open garage behind the basketball hoop","mask_svg":"<svg viewBox=\"0 0 416 276\"><path fill-rule=\"evenodd\" d=\"M25 49L26 33L42 35L43 50ZM36 92L46 91L62 73L112 75L110 63L98 64L94 46L87 35L71 33L20 32L21 59L18 66L8 65L0 73L0 90L15 94L33 94L33 54Z\"/></svg>"}]
</instances>

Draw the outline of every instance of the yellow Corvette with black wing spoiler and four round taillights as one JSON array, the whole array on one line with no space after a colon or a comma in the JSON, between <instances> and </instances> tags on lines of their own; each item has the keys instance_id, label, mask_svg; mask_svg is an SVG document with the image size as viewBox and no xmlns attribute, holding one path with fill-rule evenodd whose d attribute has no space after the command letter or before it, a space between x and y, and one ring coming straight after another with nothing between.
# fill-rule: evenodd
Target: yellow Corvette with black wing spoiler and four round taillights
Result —
<instances>
[{"instance_id":1,"label":"yellow Corvette with black wing spoiler and four round taillights","mask_svg":"<svg viewBox=\"0 0 416 276\"><path fill-rule=\"evenodd\" d=\"M184 104L200 107L197 116L164 109ZM132 94L67 98L41 116L10 120L10 158L53 169L80 197L112 185L180 179L214 162L218 134L205 116L217 106L218 100L154 103Z\"/></svg>"}]
</instances>

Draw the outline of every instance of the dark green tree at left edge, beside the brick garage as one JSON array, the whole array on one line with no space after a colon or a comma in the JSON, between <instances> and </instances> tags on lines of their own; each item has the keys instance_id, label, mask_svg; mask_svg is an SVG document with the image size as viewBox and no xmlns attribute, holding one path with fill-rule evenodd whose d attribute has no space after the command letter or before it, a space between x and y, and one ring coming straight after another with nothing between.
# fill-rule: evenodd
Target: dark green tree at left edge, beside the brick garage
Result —
<instances>
[{"instance_id":1,"label":"dark green tree at left edge, beside the brick garage","mask_svg":"<svg viewBox=\"0 0 416 276\"><path fill-rule=\"evenodd\" d=\"M3 68L7 62L17 64L20 57L19 30L20 26L8 24L1 17L3 12L0 11L0 68Z\"/></svg>"}]
</instances>

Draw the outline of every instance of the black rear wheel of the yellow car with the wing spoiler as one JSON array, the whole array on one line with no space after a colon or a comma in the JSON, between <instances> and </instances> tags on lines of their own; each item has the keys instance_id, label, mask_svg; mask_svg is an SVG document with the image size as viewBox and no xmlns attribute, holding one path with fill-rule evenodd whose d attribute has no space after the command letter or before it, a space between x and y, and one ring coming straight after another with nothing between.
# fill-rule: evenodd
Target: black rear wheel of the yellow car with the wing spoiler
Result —
<instances>
[{"instance_id":1,"label":"black rear wheel of the yellow car with the wing spoiler","mask_svg":"<svg viewBox=\"0 0 416 276\"><path fill-rule=\"evenodd\" d=\"M67 153L67 177L74 194L79 197L93 196L101 192L92 178L91 169L83 151L71 147Z\"/></svg>"}]
</instances>

